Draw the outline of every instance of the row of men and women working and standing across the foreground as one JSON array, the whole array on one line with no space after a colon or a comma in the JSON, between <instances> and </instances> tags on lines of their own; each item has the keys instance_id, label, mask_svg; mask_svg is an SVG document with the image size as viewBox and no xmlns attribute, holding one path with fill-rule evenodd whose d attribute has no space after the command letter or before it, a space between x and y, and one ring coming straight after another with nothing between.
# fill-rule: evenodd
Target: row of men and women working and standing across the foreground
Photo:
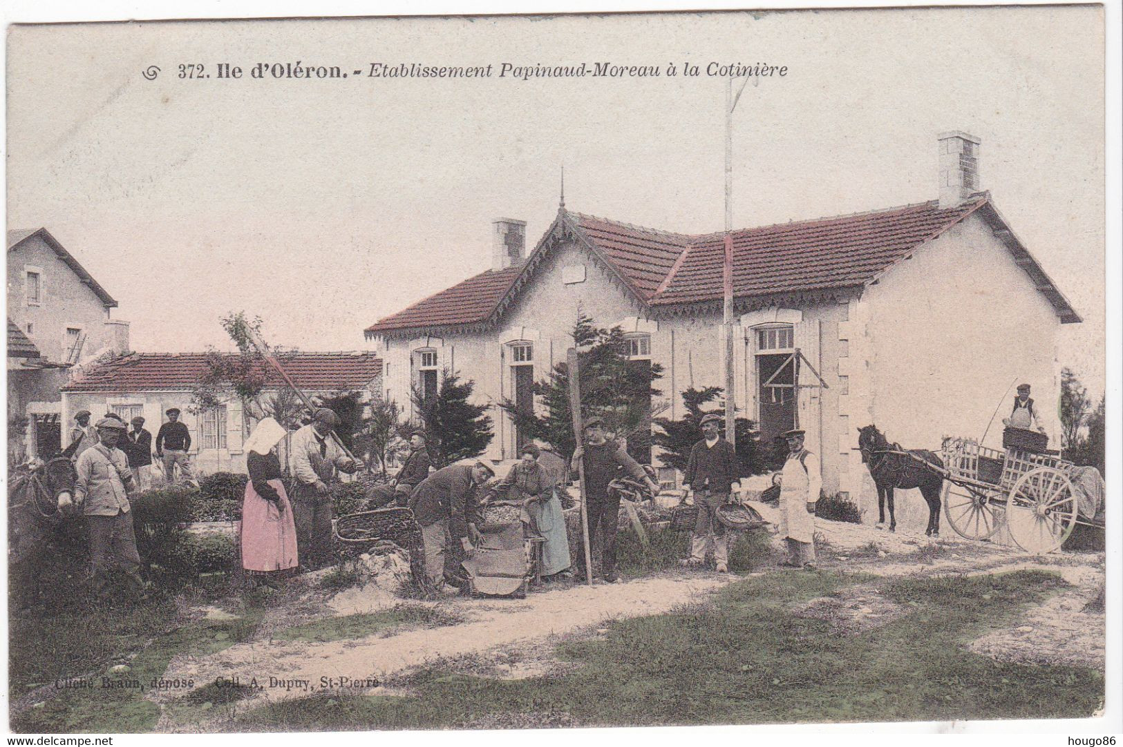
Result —
<instances>
[{"instance_id":1,"label":"row of men and women working and standing across the foreground","mask_svg":"<svg viewBox=\"0 0 1123 747\"><path fill-rule=\"evenodd\" d=\"M170 408L167 416L168 422L156 437L156 455L164 460L165 471L170 472L175 464L182 469L185 463L191 436L177 422L176 408ZM139 417L133 419L131 431L119 416L107 415L94 426L89 425L89 417L88 412L77 414L79 426L72 441L77 444L74 499L89 526L93 585L101 593L119 578L131 591L143 594L145 582L139 574L129 495L144 487L145 464L138 463L137 454L147 455L152 435ZM335 517L329 485L338 473L354 472L357 467L334 437L337 424L335 412L320 408L313 413L311 423L292 434L291 496L282 482L277 451L287 435L285 428L266 417L245 442L248 482L241 514L241 562L258 583L276 587L301 566L319 568L332 557ZM740 472L737 455L721 436L720 425L718 415L705 416L703 439L691 450L684 483L694 494L697 519L690 556L682 564L702 566L712 553L716 571L723 573L729 570L728 535L718 520L718 511L734 496L733 485L740 487ZM789 431L784 436L789 449L780 490L780 533L788 547L784 565L813 568L814 507L821 486L819 461L804 448L803 431ZM578 553L574 562L569 553L560 500L560 485L567 477L564 461L554 458L557 463L546 463L541 450L528 443L506 477L482 496L481 487L495 476L492 467L476 461L430 473L424 434L413 434L410 446L396 477L372 490L368 498L374 507L398 505L412 510L421 527L426 571L436 589L445 593L459 591L449 583L453 575L446 571L446 557L450 553L471 555L476 550L482 540L483 506L500 494L510 505L521 507L528 529L541 538L544 579L567 579L573 571L585 578L584 554ZM603 580L615 582L620 495L610 483L623 473L645 483L651 495L658 492L658 486L619 442L608 437L599 417L585 423L582 443L567 467L570 472L583 473L588 535L591 540L601 540Z\"/></svg>"}]
</instances>

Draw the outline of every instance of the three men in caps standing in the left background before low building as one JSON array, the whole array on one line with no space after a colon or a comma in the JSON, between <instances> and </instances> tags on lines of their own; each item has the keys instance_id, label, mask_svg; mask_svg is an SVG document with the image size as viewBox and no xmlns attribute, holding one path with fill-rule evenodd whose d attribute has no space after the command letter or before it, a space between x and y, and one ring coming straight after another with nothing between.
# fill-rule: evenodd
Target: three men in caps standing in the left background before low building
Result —
<instances>
[{"instance_id":1,"label":"three men in caps standing in the left background before low building","mask_svg":"<svg viewBox=\"0 0 1123 747\"><path fill-rule=\"evenodd\" d=\"M180 408L168 407L167 422L159 426L156 433L155 458L159 460L163 468L164 479L168 482L175 480L175 470L179 468L180 477L184 481L194 479L191 472L191 431L180 422ZM125 426L125 439L117 443L116 448L125 453L128 459L129 470L133 472L137 489L147 490L152 486L153 464L153 440L152 433L145 428L144 417L137 415L130 423L126 423L117 413L106 413L106 417L115 419ZM88 409L81 409L74 414L74 427L70 433L70 445L63 452L77 462L81 454L98 444L98 427L90 425L91 414ZM133 427L129 428L129 425Z\"/></svg>"}]
</instances>

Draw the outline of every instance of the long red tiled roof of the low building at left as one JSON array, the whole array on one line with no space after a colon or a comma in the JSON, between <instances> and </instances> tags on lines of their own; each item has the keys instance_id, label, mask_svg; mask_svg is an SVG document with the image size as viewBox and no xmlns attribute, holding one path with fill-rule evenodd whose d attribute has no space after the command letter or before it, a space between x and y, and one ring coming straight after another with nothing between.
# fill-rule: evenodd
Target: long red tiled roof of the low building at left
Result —
<instances>
[{"instance_id":1,"label":"long red tiled roof of the low building at left","mask_svg":"<svg viewBox=\"0 0 1123 747\"><path fill-rule=\"evenodd\" d=\"M220 353L234 357L229 353ZM63 391L149 391L190 389L208 371L209 353L130 353L91 367ZM359 389L382 374L382 359L372 352L277 353L285 372L301 389ZM272 367L261 363L267 387L284 381Z\"/></svg>"}]
</instances>

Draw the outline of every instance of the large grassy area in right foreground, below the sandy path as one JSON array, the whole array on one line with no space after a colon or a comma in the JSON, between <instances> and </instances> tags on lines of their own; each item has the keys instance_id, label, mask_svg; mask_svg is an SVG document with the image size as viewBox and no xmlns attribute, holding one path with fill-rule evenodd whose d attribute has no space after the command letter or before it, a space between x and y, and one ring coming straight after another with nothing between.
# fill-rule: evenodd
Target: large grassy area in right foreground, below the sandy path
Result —
<instances>
[{"instance_id":1,"label":"large grassy area in right foreground, below the sandy path","mask_svg":"<svg viewBox=\"0 0 1123 747\"><path fill-rule=\"evenodd\" d=\"M792 607L873 583L907 610L840 636ZM774 573L725 587L712 603L618 620L602 638L563 644L578 664L548 677L502 681L428 668L410 697L312 697L246 712L237 730L408 729L480 725L645 726L1077 718L1103 699L1103 673L1002 664L965 644L1062 582L1001 575L880 581ZM540 720L538 720L540 719Z\"/></svg>"}]
</instances>

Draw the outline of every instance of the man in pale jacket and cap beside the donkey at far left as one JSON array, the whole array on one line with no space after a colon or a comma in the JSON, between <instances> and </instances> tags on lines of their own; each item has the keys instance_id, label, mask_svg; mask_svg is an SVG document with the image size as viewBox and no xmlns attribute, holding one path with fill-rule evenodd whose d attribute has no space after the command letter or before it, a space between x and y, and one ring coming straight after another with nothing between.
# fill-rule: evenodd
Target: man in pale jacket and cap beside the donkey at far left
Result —
<instances>
[{"instance_id":1,"label":"man in pale jacket and cap beside the donkey at far left","mask_svg":"<svg viewBox=\"0 0 1123 747\"><path fill-rule=\"evenodd\" d=\"M136 486L128 459L117 449L126 437L125 426L106 417L98 421L97 427L99 442L79 457L74 485L74 502L83 507L90 537L93 588L99 597L108 599L110 587L119 578L133 593L143 596L145 583L128 498Z\"/></svg>"}]
</instances>

